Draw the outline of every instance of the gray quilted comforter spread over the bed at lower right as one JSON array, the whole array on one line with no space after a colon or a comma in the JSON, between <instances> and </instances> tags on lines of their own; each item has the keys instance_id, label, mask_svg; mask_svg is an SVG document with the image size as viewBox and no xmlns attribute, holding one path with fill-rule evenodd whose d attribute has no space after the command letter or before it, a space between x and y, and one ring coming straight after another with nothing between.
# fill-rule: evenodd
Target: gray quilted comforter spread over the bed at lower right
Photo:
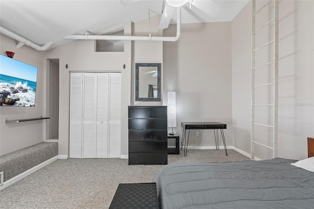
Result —
<instances>
[{"instance_id":1,"label":"gray quilted comforter spread over the bed at lower right","mask_svg":"<svg viewBox=\"0 0 314 209\"><path fill-rule=\"evenodd\" d=\"M295 162L174 163L153 181L161 209L314 209L314 172Z\"/></svg>"}]
</instances>

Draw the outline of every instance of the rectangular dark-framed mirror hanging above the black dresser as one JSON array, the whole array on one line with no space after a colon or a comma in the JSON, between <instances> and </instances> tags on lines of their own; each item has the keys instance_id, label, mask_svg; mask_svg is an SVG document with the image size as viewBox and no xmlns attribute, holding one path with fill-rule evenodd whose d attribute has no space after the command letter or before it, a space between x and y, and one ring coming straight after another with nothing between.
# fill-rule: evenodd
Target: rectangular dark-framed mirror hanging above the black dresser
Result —
<instances>
[{"instance_id":1,"label":"rectangular dark-framed mirror hanging above the black dresser","mask_svg":"<svg viewBox=\"0 0 314 209\"><path fill-rule=\"evenodd\" d=\"M160 101L160 63L135 63L135 101Z\"/></svg>"}]
</instances>

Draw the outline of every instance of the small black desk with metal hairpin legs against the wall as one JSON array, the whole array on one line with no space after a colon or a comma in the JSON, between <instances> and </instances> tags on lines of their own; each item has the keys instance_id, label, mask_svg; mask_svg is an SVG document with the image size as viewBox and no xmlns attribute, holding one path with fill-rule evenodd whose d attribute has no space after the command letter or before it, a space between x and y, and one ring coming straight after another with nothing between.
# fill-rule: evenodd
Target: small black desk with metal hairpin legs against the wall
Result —
<instances>
[{"instance_id":1,"label":"small black desk with metal hairpin legs against the wall","mask_svg":"<svg viewBox=\"0 0 314 209\"><path fill-rule=\"evenodd\" d=\"M215 136L216 149L219 149L218 129L220 129L226 155L228 155L227 147L226 147L226 140L225 140L225 135L224 135L224 129L227 129L227 124L219 123L219 122L181 122L181 127L183 128L183 139L182 139L181 148L184 143L184 156L186 156L186 153L187 153L187 145L188 145L188 138L190 136L190 129L213 129L214 136ZM186 139L186 129L188 130L187 139Z\"/></svg>"}]
</instances>

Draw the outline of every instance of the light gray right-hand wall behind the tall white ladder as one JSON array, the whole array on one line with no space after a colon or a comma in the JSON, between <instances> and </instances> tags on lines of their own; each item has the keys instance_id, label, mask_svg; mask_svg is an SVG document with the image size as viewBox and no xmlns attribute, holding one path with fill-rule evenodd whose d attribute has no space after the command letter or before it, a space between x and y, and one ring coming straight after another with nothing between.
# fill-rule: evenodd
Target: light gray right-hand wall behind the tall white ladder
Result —
<instances>
[{"instance_id":1,"label":"light gray right-hand wall behind the tall white ladder","mask_svg":"<svg viewBox=\"0 0 314 209\"><path fill-rule=\"evenodd\" d=\"M267 1L259 1L259 5ZM314 136L314 1L289 0L279 4L279 133L278 157L307 157L307 137ZM251 104L251 16L249 2L232 21L232 97L235 146L250 153ZM272 7L260 15L256 28L272 17ZM265 22L266 21L266 22ZM273 26L265 27L258 46L267 43ZM257 66L267 63L272 49L259 52ZM271 72L258 72L257 83L273 79ZM257 102L271 101L272 91L261 90ZM257 120L271 123L270 110L256 111ZM270 143L271 130L256 129L257 139ZM256 157L269 158L271 152L256 146Z\"/></svg>"}]
</instances>

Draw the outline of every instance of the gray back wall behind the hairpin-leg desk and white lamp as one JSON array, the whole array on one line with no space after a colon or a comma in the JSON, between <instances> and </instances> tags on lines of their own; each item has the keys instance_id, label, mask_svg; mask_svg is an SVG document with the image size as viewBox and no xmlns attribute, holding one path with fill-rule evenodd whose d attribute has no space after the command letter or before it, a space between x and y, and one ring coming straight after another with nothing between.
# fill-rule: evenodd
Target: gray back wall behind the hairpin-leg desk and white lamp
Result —
<instances>
[{"instance_id":1,"label":"gray back wall behind the hairpin-leg desk and white lamp","mask_svg":"<svg viewBox=\"0 0 314 209\"><path fill-rule=\"evenodd\" d=\"M177 127L181 122L217 121L227 123L225 138L232 145L231 23L182 24L177 42L163 43L163 95L176 92ZM176 34L176 25L164 36ZM167 96L163 97L167 105ZM190 133L189 145L213 146L212 130Z\"/></svg>"}]
</instances>

